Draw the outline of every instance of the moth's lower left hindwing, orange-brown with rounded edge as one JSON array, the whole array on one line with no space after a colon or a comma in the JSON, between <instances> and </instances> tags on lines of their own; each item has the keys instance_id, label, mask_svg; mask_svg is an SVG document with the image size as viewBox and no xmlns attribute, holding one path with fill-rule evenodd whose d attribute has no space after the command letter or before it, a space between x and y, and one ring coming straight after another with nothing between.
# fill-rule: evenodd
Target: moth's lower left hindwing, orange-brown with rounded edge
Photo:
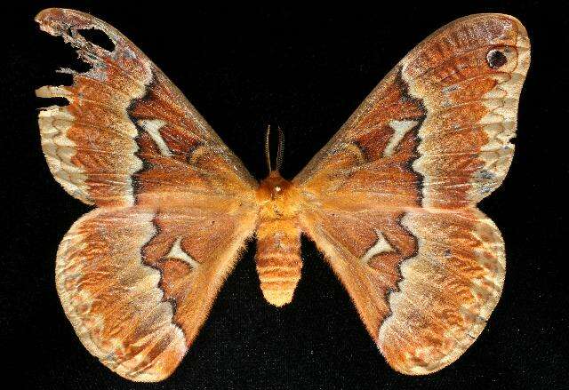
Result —
<instances>
[{"instance_id":1,"label":"moth's lower left hindwing, orange-brown with rounded edge","mask_svg":"<svg viewBox=\"0 0 569 390\"><path fill-rule=\"evenodd\" d=\"M56 283L77 336L124 378L178 366L252 234L254 213L225 208L101 208L60 243Z\"/></svg>"}]
</instances>

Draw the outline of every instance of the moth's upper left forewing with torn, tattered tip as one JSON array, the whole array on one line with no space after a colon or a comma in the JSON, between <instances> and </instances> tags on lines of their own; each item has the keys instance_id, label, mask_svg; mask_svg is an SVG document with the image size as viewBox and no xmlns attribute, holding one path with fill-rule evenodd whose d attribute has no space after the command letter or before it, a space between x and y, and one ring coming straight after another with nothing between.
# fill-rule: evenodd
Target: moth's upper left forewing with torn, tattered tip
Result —
<instances>
[{"instance_id":1,"label":"moth's upper left forewing with torn, tattered tip","mask_svg":"<svg viewBox=\"0 0 569 390\"><path fill-rule=\"evenodd\" d=\"M71 86L37 95L68 99L40 112L42 147L53 176L84 203L124 206L140 194L230 193L252 190L254 179L181 92L140 50L102 20L48 9L36 21L72 44L92 69ZM86 41L96 28L113 52Z\"/></svg>"}]
</instances>

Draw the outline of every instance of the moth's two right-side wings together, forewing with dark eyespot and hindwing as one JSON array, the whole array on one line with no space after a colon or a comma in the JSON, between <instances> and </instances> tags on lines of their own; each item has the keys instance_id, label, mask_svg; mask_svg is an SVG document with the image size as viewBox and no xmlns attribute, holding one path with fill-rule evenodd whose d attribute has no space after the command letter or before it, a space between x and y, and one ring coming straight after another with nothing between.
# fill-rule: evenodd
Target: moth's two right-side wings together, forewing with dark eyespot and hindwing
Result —
<instances>
[{"instance_id":1,"label":"moth's two right-side wings together, forewing with dark eyespot and hindwing","mask_svg":"<svg viewBox=\"0 0 569 390\"><path fill-rule=\"evenodd\" d=\"M516 19L456 20L399 62L294 180L304 231L396 370L456 360L501 295L501 235L476 203L508 171L528 66Z\"/></svg>"}]
</instances>

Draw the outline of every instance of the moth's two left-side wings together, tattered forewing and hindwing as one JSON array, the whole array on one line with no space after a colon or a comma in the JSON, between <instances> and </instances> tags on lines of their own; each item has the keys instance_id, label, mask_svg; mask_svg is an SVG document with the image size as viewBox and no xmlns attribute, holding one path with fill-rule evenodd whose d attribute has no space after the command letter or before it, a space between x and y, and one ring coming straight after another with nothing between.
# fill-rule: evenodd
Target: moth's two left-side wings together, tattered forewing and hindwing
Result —
<instances>
[{"instance_id":1,"label":"moth's two left-side wings together, tattered forewing and hindwing","mask_svg":"<svg viewBox=\"0 0 569 390\"><path fill-rule=\"evenodd\" d=\"M92 68L37 90L55 179L99 209L60 244L56 282L84 346L136 381L168 377L204 322L257 217L257 184L188 100L128 39L92 16L36 21ZM84 39L96 28L107 51Z\"/></svg>"}]
</instances>

